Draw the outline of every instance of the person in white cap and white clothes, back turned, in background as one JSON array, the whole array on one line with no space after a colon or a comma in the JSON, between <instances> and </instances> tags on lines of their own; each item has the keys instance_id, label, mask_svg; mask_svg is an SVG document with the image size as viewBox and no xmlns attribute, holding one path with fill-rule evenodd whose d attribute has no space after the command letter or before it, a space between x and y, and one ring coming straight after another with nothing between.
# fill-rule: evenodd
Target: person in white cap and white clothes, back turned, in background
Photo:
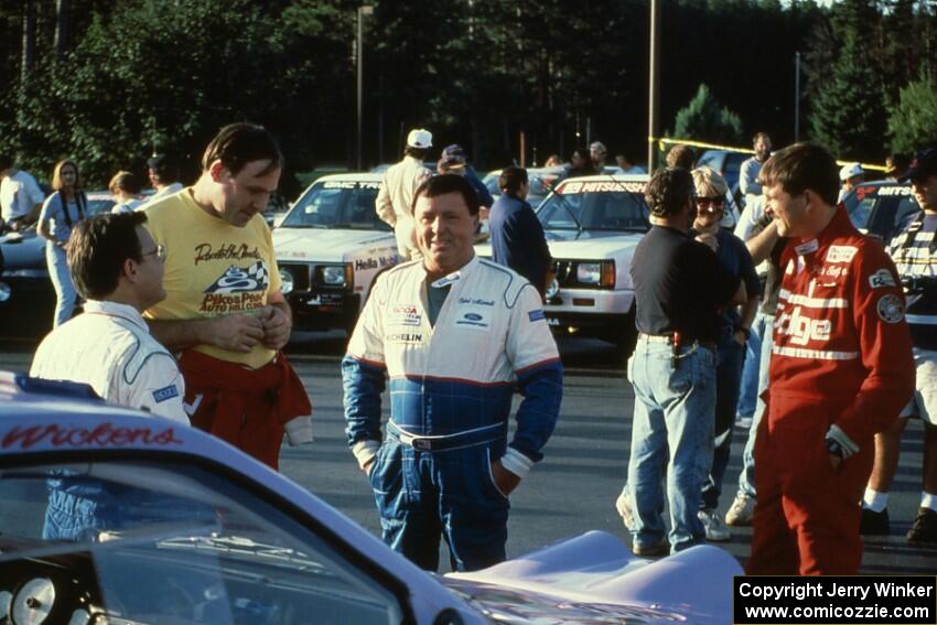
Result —
<instances>
[{"instance_id":1,"label":"person in white cap and white clothes, back turned, in background","mask_svg":"<svg viewBox=\"0 0 937 625\"><path fill-rule=\"evenodd\" d=\"M433 136L429 130L411 130L407 136L403 160L384 174L375 201L377 216L394 228L402 261L422 258L413 238L413 192L431 174L423 159L432 144Z\"/></svg>"}]
</instances>

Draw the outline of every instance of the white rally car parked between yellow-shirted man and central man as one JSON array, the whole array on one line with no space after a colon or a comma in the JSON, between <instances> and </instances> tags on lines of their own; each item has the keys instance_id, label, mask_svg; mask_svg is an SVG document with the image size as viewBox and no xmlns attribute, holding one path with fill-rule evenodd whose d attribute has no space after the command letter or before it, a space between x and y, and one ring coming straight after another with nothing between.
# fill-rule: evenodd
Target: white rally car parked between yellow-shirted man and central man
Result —
<instances>
[{"instance_id":1,"label":"white rally car parked between yellow-shirted man and central man","mask_svg":"<svg viewBox=\"0 0 937 625\"><path fill-rule=\"evenodd\" d=\"M380 174L326 175L273 230L283 294L297 330L345 330L375 277L399 261L394 230L377 217Z\"/></svg>"}]
</instances>

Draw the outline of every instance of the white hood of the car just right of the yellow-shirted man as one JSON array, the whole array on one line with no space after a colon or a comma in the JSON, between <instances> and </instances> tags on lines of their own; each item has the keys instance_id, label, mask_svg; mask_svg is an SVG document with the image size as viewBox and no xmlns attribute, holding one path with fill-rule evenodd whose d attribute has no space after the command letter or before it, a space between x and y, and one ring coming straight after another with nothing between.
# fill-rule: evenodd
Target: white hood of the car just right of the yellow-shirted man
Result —
<instances>
[{"instance_id":1,"label":"white hood of the car just right of the yellow-shirted man","mask_svg":"<svg viewBox=\"0 0 937 625\"><path fill-rule=\"evenodd\" d=\"M278 260L343 262L355 252L385 247L396 249L394 233L336 228L291 228L273 230Z\"/></svg>"}]
</instances>

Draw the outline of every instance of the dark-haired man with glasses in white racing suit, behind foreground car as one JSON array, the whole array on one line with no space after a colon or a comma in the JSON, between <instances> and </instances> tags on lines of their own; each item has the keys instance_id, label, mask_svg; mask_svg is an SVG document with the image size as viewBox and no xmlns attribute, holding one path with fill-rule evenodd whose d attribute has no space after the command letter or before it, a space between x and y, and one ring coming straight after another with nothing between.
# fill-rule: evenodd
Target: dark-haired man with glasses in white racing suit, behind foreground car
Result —
<instances>
[{"instance_id":1,"label":"dark-haired man with glasses in white racing suit, behind foreground car","mask_svg":"<svg viewBox=\"0 0 937 625\"><path fill-rule=\"evenodd\" d=\"M36 349L30 375L90 386L103 399L189 425L182 374L150 336L141 311L165 298L165 252L140 212L104 214L75 226L68 266L85 313L62 324ZM82 540L100 530L147 522L147 502L132 488L57 472L50 475L43 538ZM191 510L189 510L191 511ZM160 518L164 511L157 510Z\"/></svg>"}]
</instances>

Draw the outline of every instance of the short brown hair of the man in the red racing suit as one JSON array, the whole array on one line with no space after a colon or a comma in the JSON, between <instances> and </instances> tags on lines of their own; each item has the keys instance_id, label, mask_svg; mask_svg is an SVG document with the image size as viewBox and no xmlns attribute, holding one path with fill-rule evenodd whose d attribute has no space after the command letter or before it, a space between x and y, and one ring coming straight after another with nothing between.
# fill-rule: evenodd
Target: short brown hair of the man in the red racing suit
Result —
<instances>
[{"instance_id":1,"label":"short brown hair of the man in the red racing suit","mask_svg":"<svg viewBox=\"0 0 937 625\"><path fill-rule=\"evenodd\" d=\"M839 196L839 168L819 143L801 141L778 150L758 177L763 186L780 185L789 195L801 195L809 188L830 206L836 206Z\"/></svg>"}]
</instances>

